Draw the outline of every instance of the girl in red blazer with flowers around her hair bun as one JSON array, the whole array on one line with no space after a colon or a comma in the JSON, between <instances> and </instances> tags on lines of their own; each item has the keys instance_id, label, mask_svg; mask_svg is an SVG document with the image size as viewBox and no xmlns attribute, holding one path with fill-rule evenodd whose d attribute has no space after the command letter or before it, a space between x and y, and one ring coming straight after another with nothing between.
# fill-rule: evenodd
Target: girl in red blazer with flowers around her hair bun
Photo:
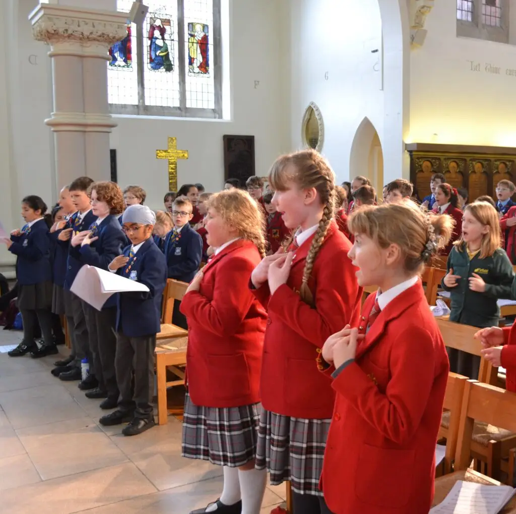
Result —
<instances>
[{"instance_id":1,"label":"girl in red blazer with flowers around her hair bun","mask_svg":"<svg viewBox=\"0 0 516 514\"><path fill-rule=\"evenodd\" d=\"M337 395L321 488L335 514L427 514L448 356L420 273L451 220L406 200L362 207L349 228L358 282L379 289L322 349Z\"/></svg>"}]
</instances>

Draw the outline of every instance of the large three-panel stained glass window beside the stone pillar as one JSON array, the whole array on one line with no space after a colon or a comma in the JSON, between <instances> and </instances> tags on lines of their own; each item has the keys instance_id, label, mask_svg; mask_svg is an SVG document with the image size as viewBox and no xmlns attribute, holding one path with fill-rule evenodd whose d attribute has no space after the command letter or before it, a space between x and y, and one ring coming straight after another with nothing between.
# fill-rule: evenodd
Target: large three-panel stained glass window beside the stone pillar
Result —
<instances>
[{"instance_id":1,"label":"large three-panel stained glass window beside the stone pillar","mask_svg":"<svg viewBox=\"0 0 516 514\"><path fill-rule=\"evenodd\" d=\"M221 117L220 0L144 3L143 26L109 52L112 112ZM132 0L117 5L128 11Z\"/></svg>"}]
</instances>

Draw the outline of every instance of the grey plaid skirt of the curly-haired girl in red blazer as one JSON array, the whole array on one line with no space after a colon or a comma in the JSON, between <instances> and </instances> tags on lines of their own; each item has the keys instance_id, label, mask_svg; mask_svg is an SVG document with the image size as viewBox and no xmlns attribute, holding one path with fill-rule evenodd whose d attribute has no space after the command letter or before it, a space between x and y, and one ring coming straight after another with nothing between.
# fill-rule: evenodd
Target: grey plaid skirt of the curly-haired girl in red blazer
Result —
<instances>
[{"instance_id":1,"label":"grey plaid skirt of the curly-haired girl in red blazer","mask_svg":"<svg viewBox=\"0 0 516 514\"><path fill-rule=\"evenodd\" d=\"M237 468L256 456L260 404L198 407L187 393L183 417L182 456Z\"/></svg>"}]
</instances>

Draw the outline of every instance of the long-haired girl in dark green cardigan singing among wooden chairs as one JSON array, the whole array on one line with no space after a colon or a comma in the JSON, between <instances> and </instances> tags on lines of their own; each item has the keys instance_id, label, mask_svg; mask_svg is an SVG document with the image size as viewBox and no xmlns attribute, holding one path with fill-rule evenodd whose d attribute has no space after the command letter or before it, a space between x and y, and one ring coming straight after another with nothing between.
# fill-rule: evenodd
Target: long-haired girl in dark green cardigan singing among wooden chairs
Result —
<instances>
[{"instance_id":1,"label":"long-haired girl in dark green cardigan singing among wooden chairs","mask_svg":"<svg viewBox=\"0 0 516 514\"><path fill-rule=\"evenodd\" d=\"M499 298L511 298L514 272L500 247L498 213L485 201L466 205L462 237L448 255L447 274L441 283L450 292L450 321L486 328L497 325ZM480 356L448 348L450 370L478 378Z\"/></svg>"}]
</instances>

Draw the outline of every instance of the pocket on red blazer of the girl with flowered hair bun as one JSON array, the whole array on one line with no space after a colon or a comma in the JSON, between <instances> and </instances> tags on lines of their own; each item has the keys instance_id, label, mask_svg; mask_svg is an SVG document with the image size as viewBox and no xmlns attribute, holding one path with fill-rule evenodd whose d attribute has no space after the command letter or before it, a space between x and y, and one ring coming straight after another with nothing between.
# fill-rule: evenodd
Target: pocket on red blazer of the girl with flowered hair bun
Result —
<instances>
[{"instance_id":1,"label":"pocket on red blazer of the girl with flowered hair bun","mask_svg":"<svg viewBox=\"0 0 516 514\"><path fill-rule=\"evenodd\" d=\"M399 509L407 505L412 494L415 454L415 450L377 448L362 444L355 474L358 499L385 509ZM388 472L385 473L385 470ZM372 484L374 487L371 487Z\"/></svg>"}]
</instances>

